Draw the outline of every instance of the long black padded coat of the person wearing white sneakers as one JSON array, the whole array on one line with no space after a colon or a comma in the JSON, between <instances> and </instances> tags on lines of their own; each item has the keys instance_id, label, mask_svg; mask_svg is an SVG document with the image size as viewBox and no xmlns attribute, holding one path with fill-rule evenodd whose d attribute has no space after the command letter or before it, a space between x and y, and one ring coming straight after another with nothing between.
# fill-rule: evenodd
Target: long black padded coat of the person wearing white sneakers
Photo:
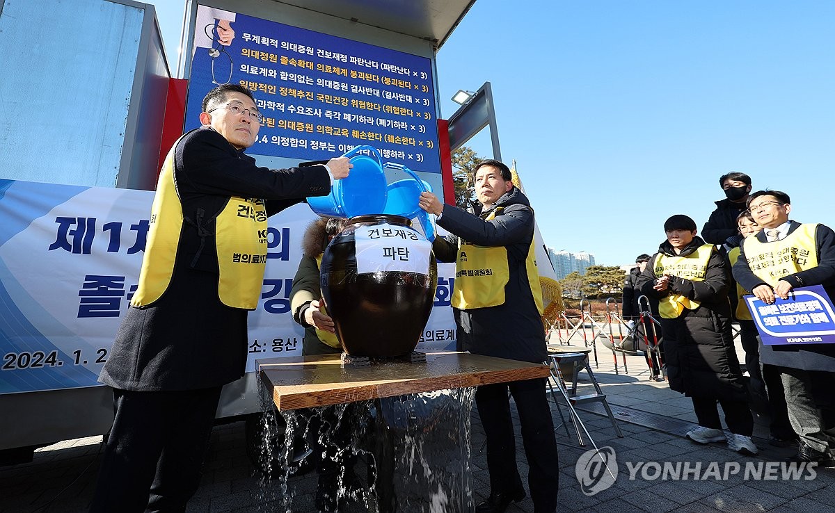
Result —
<instances>
[{"instance_id":1,"label":"long black padded coat of the person wearing white sneakers","mask_svg":"<svg viewBox=\"0 0 835 513\"><path fill-rule=\"evenodd\" d=\"M701 238L694 238L680 256L693 254L703 244ZM658 278L655 261L659 254L674 256L675 252L667 241L658 251L640 275L641 292L658 299L670 293L681 294L700 303L696 309L685 309L676 319L660 319L670 388L691 397L746 400L731 333L730 269L724 257L714 249L704 281L676 277L665 292L659 292L652 288Z\"/></svg>"}]
</instances>

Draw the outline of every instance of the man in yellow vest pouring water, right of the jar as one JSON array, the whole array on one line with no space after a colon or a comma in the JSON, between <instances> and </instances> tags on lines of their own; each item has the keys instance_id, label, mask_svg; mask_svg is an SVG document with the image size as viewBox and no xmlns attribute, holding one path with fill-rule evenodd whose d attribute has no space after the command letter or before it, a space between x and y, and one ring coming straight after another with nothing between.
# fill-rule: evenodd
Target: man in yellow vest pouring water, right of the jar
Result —
<instances>
[{"instance_id":1,"label":"man in yellow vest pouring water, right of the jar","mask_svg":"<svg viewBox=\"0 0 835 513\"><path fill-rule=\"evenodd\" d=\"M477 202L472 212L443 204L421 193L421 209L438 216L451 236L433 243L435 257L455 262L453 312L458 350L534 363L544 362L542 292L534 259L534 210L498 160L483 160L473 171ZM534 511L557 508L559 465L554 422L545 379L482 385L475 400L487 436L490 496L476 511L504 511L524 499L516 465L514 425L508 390L519 411L522 440L530 471Z\"/></svg>"}]
</instances>

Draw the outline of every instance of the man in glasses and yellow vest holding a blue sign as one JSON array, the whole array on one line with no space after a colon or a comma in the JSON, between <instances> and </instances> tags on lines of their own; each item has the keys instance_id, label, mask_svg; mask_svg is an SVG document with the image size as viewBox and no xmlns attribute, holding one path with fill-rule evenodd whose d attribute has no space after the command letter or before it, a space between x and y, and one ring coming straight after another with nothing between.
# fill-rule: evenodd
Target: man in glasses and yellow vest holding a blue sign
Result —
<instances>
[{"instance_id":1,"label":"man in glasses and yellow vest holding a blue sign","mask_svg":"<svg viewBox=\"0 0 835 513\"><path fill-rule=\"evenodd\" d=\"M835 232L822 224L788 219L791 199L781 191L757 191L748 209L762 232L742 242L733 275L766 304L792 289L822 285L835 294ZM835 465L835 345L760 345L763 364L777 365L786 391L788 418L800 436L796 461Z\"/></svg>"}]
</instances>

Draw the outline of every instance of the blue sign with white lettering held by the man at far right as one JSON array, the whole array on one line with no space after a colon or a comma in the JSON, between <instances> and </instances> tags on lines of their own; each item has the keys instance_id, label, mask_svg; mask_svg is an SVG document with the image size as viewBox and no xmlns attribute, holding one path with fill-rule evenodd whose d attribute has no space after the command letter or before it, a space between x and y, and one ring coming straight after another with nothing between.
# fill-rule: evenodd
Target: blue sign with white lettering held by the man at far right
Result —
<instances>
[{"instance_id":1,"label":"blue sign with white lettering held by the man at far right","mask_svg":"<svg viewBox=\"0 0 835 513\"><path fill-rule=\"evenodd\" d=\"M774 304L753 295L745 300L764 345L835 343L835 308L821 285L793 289Z\"/></svg>"}]
</instances>

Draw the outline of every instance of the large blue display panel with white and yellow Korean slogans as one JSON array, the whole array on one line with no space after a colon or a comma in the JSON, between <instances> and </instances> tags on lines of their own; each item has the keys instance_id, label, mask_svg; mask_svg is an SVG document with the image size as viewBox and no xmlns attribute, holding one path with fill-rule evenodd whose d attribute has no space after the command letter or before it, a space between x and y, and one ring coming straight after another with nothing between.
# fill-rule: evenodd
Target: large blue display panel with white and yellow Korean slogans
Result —
<instances>
[{"instance_id":1,"label":"large blue display panel with white and yellow Korean slogans","mask_svg":"<svg viewBox=\"0 0 835 513\"><path fill-rule=\"evenodd\" d=\"M251 90L264 115L251 154L327 160L361 145L440 173L430 58L200 5L186 128L210 89Z\"/></svg>"}]
</instances>

